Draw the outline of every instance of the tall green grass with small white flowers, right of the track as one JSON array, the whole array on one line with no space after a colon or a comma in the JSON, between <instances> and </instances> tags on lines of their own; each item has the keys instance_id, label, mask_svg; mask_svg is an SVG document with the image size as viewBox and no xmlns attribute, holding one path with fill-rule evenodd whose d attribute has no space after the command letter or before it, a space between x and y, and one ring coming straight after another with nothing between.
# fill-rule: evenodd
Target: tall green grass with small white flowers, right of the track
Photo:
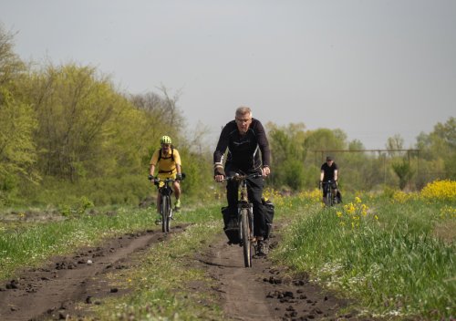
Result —
<instances>
[{"instance_id":1,"label":"tall green grass with small white flowers, right of the track","mask_svg":"<svg viewBox=\"0 0 456 321\"><path fill-rule=\"evenodd\" d=\"M372 199L367 205L366 215L359 203L354 215L307 204L275 257L356 299L372 316L455 316L455 243L434 233L442 204Z\"/></svg>"}]
</instances>

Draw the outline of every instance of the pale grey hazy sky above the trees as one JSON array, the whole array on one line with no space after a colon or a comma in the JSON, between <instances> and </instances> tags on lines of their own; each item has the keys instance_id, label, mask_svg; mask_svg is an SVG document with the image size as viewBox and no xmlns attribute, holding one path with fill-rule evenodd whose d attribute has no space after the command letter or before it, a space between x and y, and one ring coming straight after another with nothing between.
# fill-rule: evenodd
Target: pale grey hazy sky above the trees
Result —
<instances>
[{"instance_id":1,"label":"pale grey hazy sky above the trees","mask_svg":"<svg viewBox=\"0 0 456 321\"><path fill-rule=\"evenodd\" d=\"M456 117L455 0L0 0L0 24L26 61L166 88L213 145L239 106L366 149Z\"/></svg>"}]
</instances>

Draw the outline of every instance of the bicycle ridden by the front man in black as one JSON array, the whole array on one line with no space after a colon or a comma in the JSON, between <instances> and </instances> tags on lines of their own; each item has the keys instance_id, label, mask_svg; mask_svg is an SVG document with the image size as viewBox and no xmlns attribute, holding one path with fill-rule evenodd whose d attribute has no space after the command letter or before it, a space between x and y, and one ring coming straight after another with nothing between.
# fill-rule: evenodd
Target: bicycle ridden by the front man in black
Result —
<instances>
[{"instance_id":1,"label":"bicycle ridden by the front man in black","mask_svg":"<svg viewBox=\"0 0 456 321\"><path fill-rule=\"evenodd\" d=\"M226 181L240 182L237 222L239 223L239 245L243 246L245 267L252 267L252 248L254 247L254 205L248 200L247 179L255 179L262 176L260 173L235 174L225 178Z\"/></svg>"}]
</instances>

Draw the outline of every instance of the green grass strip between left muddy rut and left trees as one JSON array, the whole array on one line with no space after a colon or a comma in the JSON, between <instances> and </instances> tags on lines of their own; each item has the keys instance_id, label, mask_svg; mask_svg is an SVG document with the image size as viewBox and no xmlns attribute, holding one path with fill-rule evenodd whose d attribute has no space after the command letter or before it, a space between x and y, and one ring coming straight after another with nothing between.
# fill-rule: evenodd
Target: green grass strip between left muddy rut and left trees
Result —
<instances>
[{"instance_id":1,"label":"green grass strip between left muddy rut and left trees","mask_svg":"<svg viewBox=\"0 0 456 321\"><path fill-rule=\"evenodd\" d=\"M153 226L150 210L120 208L116 214L81 214L46 223L0 226L0 279L18 267L43 264L51 255L94 245L103 238Z\"/></svg>"}]
</instances>

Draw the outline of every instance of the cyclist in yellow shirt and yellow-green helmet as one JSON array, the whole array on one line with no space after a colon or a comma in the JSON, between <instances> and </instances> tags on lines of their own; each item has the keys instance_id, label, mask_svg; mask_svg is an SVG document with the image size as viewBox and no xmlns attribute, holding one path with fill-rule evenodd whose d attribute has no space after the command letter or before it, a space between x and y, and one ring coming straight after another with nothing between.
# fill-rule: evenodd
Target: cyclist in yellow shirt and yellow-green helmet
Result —
<instances>
[{"instance_id":1,"label":"cyclist in yellow shirt and yellow-green helmet","mask_svg":"<svg viewBox=\"0 0 456 321\"><path fill-rule=\"evenodd\" d=\"M174 149L172 146L172 141L169 136L162 136L161 148L155 150L152 158L150 159L150 170L149 170L149 179L153 181L155 178L154 172L155 168L158 167L157 177L161 180L171 178L174 181L172 187L174 190L174 196L176 197L175 209L179 210L181 208L181 184L182 180L181 174L181 156L179 151ZM157 212L160 213L161 208L161 194L157 195Z\"/></svg>"}]
</instances>

